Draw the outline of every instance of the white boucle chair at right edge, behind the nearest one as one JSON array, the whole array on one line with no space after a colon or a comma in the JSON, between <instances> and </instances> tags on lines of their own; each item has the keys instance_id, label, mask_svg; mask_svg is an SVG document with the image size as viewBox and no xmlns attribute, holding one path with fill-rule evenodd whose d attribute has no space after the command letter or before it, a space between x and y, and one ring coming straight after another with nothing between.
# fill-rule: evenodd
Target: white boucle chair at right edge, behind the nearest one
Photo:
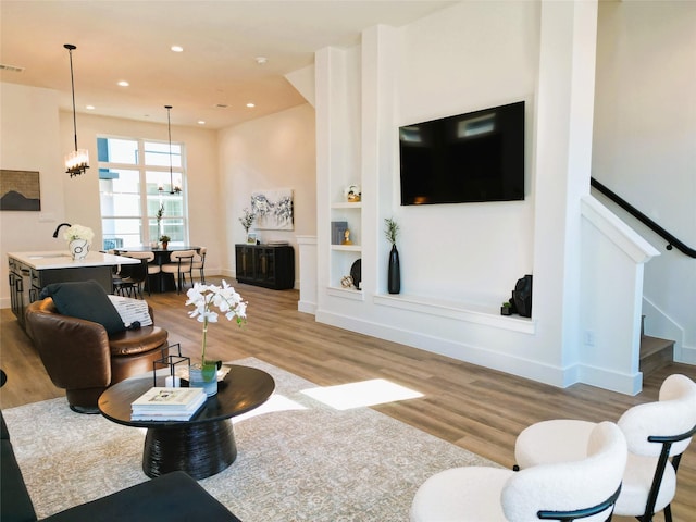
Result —
<instances>
[{"instance_id":1,"label":"white boucle chair at right edge, behind the nearest one","mask_svg":"<svg viewBox=\"0 0 696 522\"><path fill-rule=\"evenodd\" d=\"M671 522L676 470L696 432L696 383L670 375L660 387L659 401L634 406L618 424L626 437L629 460L614 513L648 522L664 510L664 520ZM518 467L582 459L595 425L561 419L529 426L515 442Z\"/></svg>"}]
</instances>

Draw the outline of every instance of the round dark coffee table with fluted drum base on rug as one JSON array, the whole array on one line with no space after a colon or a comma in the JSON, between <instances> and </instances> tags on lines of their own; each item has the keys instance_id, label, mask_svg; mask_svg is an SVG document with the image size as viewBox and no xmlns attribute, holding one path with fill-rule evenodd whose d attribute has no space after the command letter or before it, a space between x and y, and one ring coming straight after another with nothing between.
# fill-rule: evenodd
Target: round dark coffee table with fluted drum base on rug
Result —
<instances>
[{"instance_id":1,"label":"round dark coffee table with fluted drum base on rug","mask_svg":"<svg viewBox=\"0 0 696 522\"><path fill-rule=\"evenodd\" d=\"M159 380L160 377L158 377ZM164 386L164 377L158 386ZM196 480L220 473L237 458L231 418L252 410L275 389L262 370L231 365L217 394L188 421L132 421L130 403L152 387L152 374L114 384L99 397L99 411L110 421L147 427L142 471L149 477L185 471Z\"/></svg>"}]
</instances>

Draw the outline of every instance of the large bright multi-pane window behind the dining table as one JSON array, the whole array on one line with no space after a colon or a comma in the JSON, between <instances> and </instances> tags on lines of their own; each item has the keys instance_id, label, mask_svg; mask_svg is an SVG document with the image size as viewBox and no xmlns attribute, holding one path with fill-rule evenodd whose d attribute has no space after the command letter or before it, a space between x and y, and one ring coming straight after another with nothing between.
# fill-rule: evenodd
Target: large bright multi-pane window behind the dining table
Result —
<instances>
[{"instance_id":1,"label":"large bright multi-pane window behind the dining table","mask_svg":"<svg viewBox=\"0 0 696 522\"><path fill-rule=\"evenodd\" d=\"M171 157L169 142L134 138L97 138L97 149L103 249L149 245L162 235L187 244L184 145L172 144Z\"/></svg>"}]
</instances>

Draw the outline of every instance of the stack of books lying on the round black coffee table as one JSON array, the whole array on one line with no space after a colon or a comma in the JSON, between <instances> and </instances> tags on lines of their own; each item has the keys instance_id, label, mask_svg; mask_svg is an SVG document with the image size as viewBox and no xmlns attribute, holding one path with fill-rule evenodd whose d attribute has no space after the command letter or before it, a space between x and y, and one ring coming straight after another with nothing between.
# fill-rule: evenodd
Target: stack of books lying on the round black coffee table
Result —
<instances>
[{"instance_id":1,"label":"stack of books lying on the round black coffee table","mask_svg":"<svg viewBox=\"0 0 696 522\"><path fill-rule=\"evenodd\" d=\"M148 389L130 403L132 421L188 421L206 403L203 388Z\"/></svg>"}]
</instances>

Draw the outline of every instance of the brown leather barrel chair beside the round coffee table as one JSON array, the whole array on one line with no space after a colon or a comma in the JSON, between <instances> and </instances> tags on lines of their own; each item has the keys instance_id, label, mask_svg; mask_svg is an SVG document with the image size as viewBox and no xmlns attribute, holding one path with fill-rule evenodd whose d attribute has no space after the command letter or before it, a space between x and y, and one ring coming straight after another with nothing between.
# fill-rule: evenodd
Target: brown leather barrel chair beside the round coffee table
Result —
<instances>
[{"instance_id":1,"label":"brown leather barrel chair beside the round coffee table","mask_svg":"<svg viewBox=\"0 0 696 522\"><path fill-rule=\"evenodd\" d=\"M58 313L50 297L27 307L26 326L49 377L79 413L98 413L104 389L152 372L152 362L169 355L166 330L142 326L109 337L99 323Z\"/></svg>"}]
</instances>

